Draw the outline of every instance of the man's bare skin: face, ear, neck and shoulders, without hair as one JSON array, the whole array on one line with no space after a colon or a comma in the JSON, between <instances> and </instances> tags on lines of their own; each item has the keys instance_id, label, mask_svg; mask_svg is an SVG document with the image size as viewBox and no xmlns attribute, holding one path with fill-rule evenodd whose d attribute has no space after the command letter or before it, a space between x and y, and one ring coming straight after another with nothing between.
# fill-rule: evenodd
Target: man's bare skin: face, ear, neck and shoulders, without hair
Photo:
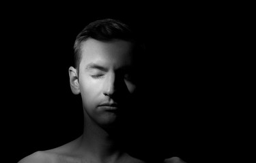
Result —
<instances>
[{"instance_id":1,"label":"man's bare skin: face, ear, neck and shoulders, without hair","mask_svg":"<svg viewBox=\"0 0 256 163\"><path fill-rule=\"evenodd\" d=\"M83 43L79 72L74 67L69 69L71 90L82 96L83 135L61 147L35 152L18 163L145 163L123 151L112 132L120 118L115 109L132 103L129 96L137 88L129 77L132 48L132 43L122 40L88 39ZM118 105L106 107L102 103ZM165 162L181 160L170 158Z\"/></svg>"}]
</instances>

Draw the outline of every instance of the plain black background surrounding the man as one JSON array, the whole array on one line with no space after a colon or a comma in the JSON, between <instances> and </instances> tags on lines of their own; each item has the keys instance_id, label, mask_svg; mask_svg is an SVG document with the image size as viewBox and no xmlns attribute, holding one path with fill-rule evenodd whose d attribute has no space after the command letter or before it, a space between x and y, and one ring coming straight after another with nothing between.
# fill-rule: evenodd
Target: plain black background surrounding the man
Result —
<instances>
[{"instance_id":1,"label":"plain black background surrounding the man","mask_svg":"<svg viewBox=\"0 0 256 163\"><path fill-rule=\"evenodd\" d=\"M240 33L233 34L240 15L221 5L119 5L8 5L1 62L9 159L17 162L82 133L81 99L70 91L68 68L76 35L102 18L126 22L146 42L141 98L147 109L139 111L136 130L141 145L154 151L160 144L166 157L187 162L212 160L230 147L229 130L239 124L233 106L240 105L233 76L244 65L234 54L241 52Z\"/></svg>"}]
</instances>

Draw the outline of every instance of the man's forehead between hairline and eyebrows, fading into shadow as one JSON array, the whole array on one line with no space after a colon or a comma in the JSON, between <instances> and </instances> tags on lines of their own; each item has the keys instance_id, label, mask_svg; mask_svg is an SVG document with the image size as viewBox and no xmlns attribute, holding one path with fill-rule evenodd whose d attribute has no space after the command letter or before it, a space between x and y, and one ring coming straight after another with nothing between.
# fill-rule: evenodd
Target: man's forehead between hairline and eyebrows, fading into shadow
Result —
<instances>
[{"instance_id":1,"label":"man's forehead between hairline and eyebrows, fading into shadow","mask_svg":"<svg viewBox=\"0 0 256 163\"><path fill-rule=\"evenodd\" d=\"M129 41L87 39L81 43L80 65L86 66L94 62L113 67L129 66L132 65L133 53L134 46Z\"/></svg>"}]
</instances>

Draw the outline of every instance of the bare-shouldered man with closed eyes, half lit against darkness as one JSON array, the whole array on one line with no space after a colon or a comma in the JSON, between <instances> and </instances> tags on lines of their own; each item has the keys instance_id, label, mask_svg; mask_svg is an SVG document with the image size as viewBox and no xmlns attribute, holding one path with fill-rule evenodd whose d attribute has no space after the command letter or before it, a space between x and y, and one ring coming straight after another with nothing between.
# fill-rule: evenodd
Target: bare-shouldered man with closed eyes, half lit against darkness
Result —
<instances>
[{"instance_id":1,"label":"bare-shouldered man with closed eyes, half lit against darkness","mask_svg":"<svg viewBox=\"0 0 256 163\"><path fill-rule=\"evenodd\" d=\"M61 147L37 151L19 163L148 162L131 156L118 139L123 117L137 94L141 53L140 41L122 22L106 19L86 26L76 37L75 67L69 69L71 90L82 97L83 135Z\"/></svg>"}]
</instances>

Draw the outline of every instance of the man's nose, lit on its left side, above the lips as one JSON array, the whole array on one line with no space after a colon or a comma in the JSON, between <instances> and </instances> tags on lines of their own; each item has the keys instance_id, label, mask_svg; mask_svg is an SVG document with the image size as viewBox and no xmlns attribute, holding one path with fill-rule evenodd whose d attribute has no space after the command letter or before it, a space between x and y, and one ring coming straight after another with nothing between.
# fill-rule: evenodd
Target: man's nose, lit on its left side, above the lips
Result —
<instances>
[{"instance_id":1,"label":"man's nose, lit on its left side, above the lips","mask_svg":"<svg viewBox=\"0 0 256 163\"><path fill-rule=\"evenodd\" d=\"M111 73L104 82L104 90L103 94L105 96L113 96L116 91L116 75L115 73Z\"/></svg>"}]
</instances>

